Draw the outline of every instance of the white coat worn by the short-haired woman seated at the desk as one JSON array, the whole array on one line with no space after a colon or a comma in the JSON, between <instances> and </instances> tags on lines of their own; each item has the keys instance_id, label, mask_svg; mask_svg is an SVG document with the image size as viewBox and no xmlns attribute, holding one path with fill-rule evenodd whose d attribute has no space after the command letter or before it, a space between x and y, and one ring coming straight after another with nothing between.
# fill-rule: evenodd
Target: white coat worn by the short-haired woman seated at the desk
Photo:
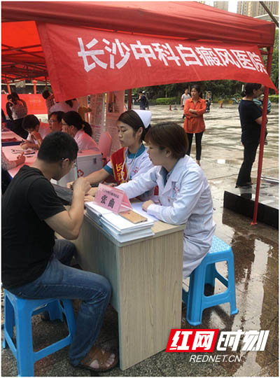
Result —
<instances>
[{"instance_id":1,"label":"white coat worn by the short-haired woman seated at the desk","mask_svg":"<svg viewBox=\"0 0 280 378\"><path fill-rule=\"evenodd\" d=\"M211 191L202 169L188 155L176 163L166 185L162 169L153 167L118 188L133 198L158 185L160 204L151 204L147 213L173 225L186 223L183 240L183 278L186 278L211 248L216 228Z\"/></svg>"}]
</instances>

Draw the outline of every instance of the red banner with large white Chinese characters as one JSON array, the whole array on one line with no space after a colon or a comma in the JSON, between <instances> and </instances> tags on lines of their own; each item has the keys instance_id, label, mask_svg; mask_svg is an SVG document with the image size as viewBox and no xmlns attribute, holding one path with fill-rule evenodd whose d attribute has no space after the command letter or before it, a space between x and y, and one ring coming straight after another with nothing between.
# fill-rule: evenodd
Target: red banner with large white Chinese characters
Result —
<instances>
[{"instance_id":1,"label":"red banner with large white Chinese characters","mask_svg":"<svg viewBox=\"0 0 280 378\"><path fill-rule=\"evenodd\" d=\"M201 80L274 84L257 45L135 36L37 23L55 99Z\"/></svg>"}]
</instances>

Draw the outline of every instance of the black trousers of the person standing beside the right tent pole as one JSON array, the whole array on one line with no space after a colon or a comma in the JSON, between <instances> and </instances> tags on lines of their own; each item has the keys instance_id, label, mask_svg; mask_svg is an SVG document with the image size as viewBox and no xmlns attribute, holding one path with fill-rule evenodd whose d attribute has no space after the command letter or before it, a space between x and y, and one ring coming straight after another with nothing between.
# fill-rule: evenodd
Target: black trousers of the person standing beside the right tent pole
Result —
<instances>
[{"instance_id":1,"label":"black trousers of the person standing beside the right tent pole","mask_svg":"<svg viewBox=\"0 0 280 378\"><path fill-rule=\"evenodd\" d=\"M246 142L244 146L244 158L237 177L238 186L246 186L251 184L251 170L255 155L258 150L258 142Z\"/></svg>"}]
</instances>

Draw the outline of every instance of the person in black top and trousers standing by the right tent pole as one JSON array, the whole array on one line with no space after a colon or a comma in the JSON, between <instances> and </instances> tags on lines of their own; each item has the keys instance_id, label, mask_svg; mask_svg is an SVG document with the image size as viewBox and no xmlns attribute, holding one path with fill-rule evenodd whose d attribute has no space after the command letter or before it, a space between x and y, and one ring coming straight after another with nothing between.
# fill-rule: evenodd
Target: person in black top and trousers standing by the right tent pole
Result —
<instances>
[{"instance_id":1,"label":"person in black top and trousers standing by the right tent pole","mask_svg":"<svg viewBox=\"0 0 280 378\"><path fill-rule=\"evenodd\" d=\"M260 96L264 86L257 83L245 85L244 97L239 104L239 116L241 123L241 142L244 146L244 160L239 170L236 187L251 186L251 170L260 141L260 128L262 125L262 111L253 102Z\"/></svg>"}]
</instances>

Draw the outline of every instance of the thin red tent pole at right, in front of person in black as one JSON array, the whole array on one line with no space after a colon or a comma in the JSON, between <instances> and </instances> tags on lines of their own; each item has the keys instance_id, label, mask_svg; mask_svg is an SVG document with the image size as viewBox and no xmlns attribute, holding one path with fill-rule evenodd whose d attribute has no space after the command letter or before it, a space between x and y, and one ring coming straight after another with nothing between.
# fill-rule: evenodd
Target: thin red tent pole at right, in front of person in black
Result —
<instances>
[{"instance_id":1,"label":"thin red tent pole at right, in front of person in black","mask_svg":"<svg viewBox=\"0 0 280 378\"><path fill-rule=\"evenodd\" d=\"M267 55L267 73L270 76L271 66L272 66L272 52L273 48L267 48L268 55ZM258 178L257 178L257 186L255 188L255 204L254 204L254 212L253 212L253 221L251 225L256 225L257 216L258 216L258 198L260 194L260 176L262 174L262 158L263 158L263 146L265 144L265 126L267 123L267 100L268 100L268 91L269 88L265 87L265 97L263 99L263 106L262 106L262 125L260 130L260 153L258 155Z\"/></svg>"}]
</instances>

